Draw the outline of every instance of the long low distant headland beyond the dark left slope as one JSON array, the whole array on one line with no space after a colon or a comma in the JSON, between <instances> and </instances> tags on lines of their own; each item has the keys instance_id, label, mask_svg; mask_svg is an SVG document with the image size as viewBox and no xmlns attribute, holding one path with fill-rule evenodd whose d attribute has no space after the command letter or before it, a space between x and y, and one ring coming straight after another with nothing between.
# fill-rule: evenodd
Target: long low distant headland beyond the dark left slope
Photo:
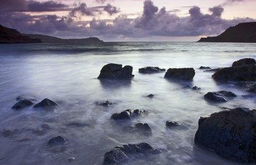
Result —
<instances>
[{"instance_id":1,"label":"long low distant headland beyond the dark left slope","mask_svg":"<svg viewBox=\"0 0 256 165\"><path fill-rule=\"evenodd\" d=\"M84 42L103 42L97 37L89 37L89 38L81 38L81 39L62 39L54 36L47 35L30 35L23 34L25 36L29 36L30 38L39 38L44 43L84 43Z\"/></svg>"}]
</instances>

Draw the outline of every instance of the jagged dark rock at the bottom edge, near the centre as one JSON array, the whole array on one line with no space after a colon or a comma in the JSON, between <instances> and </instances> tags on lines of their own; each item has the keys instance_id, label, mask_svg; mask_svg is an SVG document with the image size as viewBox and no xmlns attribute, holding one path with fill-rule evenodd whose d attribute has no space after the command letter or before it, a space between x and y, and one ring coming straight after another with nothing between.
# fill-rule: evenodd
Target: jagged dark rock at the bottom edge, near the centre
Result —
<instances>
[{"instance_id":1,"label":"jagged dark rock at the bottom edge, near the centre","mask_svg":"<svg viewBox=\"0 0 256 165\"><path fill-rule=\"evenodd\" d=\"M122 164L134 159L145 159L159 153L161 150L153 148L148 143L116 146L105 153L103 164Z\"/></svg>"}]
</instances>

